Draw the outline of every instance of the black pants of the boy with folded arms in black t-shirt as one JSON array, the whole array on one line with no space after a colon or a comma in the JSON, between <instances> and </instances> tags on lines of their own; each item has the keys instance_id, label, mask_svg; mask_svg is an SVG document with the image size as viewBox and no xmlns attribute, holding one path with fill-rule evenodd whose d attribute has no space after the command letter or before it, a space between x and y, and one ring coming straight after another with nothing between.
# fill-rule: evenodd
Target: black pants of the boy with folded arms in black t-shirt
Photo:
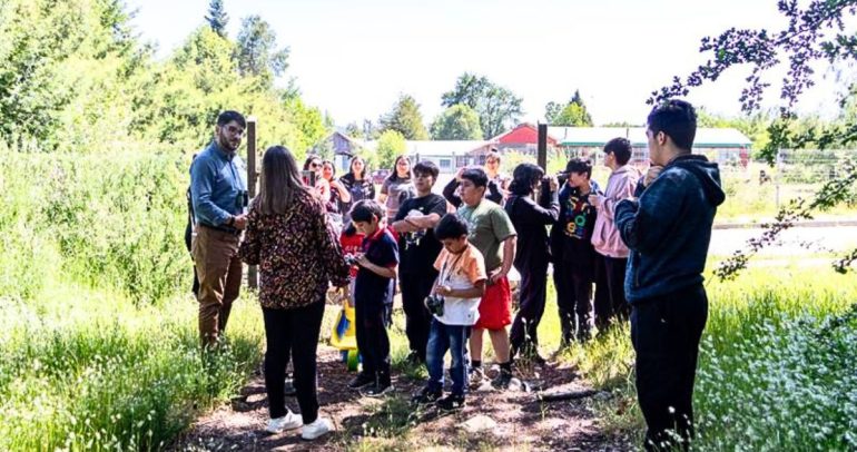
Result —
<instances>
[{"instance_id":1,"label":"black pants of the boy with folded arms in black t-shirt","mask_svg":"<svg viewBox=\"0 0 857 452\"><path fill-rule=\"evenodd\" d=\"M432 326L432 313L423 303L432 285L437 277L434 269L426 271L423 275L402 273L398 275L398 284L402 287L402 308L405 312L405 334L412 352L416 352L422 362L425 362L425 350L428 344L428 331Z\"/></svg>"}]
</instances>

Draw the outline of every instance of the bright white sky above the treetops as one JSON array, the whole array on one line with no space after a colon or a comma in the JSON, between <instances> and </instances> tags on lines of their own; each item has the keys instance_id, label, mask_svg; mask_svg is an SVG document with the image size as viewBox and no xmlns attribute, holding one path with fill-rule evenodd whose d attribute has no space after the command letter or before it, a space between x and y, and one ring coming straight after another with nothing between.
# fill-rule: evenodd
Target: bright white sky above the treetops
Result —
<instances>
[{"instance_id":1,"label":"bright white sky above the treetops","mask_svg":"<svg viewBox=\"0 0 857 452\"><path fill-rule=\"evenodd\" d=\"M204 23L208 0L128 0L137 32L167 58ZM289 47L286 77L338 126L377 120L402 94L427 124L463 72L486 76L523 98L521 120L580 94L595 125L643 124L650 92L705 62L700 39L730 27L778 29L775 0L225 0L227 32L259 14ZM740 115L749 71L691 91L707 110ZM781 71L771 77L775 82ZM278 81L285 86L285 80ZM833 76L802 111L828 111ZM768 97L776 100L777 92ZM829 111L828 111L829 112Z\"/></svg>"}]
</instances>

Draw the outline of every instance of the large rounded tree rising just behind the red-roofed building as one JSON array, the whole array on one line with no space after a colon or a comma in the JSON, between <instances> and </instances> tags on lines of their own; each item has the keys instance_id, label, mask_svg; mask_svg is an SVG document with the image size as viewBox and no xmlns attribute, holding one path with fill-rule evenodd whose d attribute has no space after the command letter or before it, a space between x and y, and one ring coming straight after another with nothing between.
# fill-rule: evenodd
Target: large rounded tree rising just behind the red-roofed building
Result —
<instances>
[{"instance_id":1,"label":"large rounded tree rising just behind the red-roofed building","mask_svg":"<svg viewBox=\"0 0 857 452\"><path fill-rule=\"evenodd\" d=\"M500 135L518 120L523 114L521 102L523 99L511 90L469 72L459 77L452 91L441 96L443 107L463 104L475 110L485 139Z\"/></svg>"}]
</instances>

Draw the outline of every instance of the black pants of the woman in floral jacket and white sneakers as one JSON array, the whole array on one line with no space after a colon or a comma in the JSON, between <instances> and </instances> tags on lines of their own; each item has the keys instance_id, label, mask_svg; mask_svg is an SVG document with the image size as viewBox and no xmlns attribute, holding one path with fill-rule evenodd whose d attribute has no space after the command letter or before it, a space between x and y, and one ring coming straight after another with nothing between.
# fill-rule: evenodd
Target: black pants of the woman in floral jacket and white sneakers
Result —
<instances>
[{"instance_id":1,"label":"black pants of the woman in floral jacket and white sneakers","mask_svg":"<svg viewBox=\"0 0 857 452\"><path fill-rule=\"evenodd\" d=\"M265 320L265 389L272 419L286 415L284 385L289 354L301 416L308 424L318 417L316 348L324 316L324 301L292 309L262 308Z\"/></svg>"}]
</instances>

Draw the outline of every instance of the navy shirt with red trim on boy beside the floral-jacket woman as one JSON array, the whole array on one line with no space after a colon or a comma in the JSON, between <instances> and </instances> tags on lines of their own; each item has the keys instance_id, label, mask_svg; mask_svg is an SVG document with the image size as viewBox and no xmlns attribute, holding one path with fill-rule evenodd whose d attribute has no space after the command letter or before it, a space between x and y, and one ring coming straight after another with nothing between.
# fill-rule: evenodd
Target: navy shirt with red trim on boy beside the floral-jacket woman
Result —
<instances>
[{"instance_id":1,"label":"navy shirt with red trim on boy beside the floral-jacket woman","mask_svg":"<svg viewBox=\"0 0 857 452\"><path fill-rule=\"evenodd\" d=\"M372 237L365 237L362 248L366 258L377 266L393 267L398 264L398 245L387 229L381 229ZM390 291L393 285L390 281L391 278L358 266L357 278L354 282L355 305L361 308L372 308L391 303L393 297Z\"/></svg>"}]
</instances>

